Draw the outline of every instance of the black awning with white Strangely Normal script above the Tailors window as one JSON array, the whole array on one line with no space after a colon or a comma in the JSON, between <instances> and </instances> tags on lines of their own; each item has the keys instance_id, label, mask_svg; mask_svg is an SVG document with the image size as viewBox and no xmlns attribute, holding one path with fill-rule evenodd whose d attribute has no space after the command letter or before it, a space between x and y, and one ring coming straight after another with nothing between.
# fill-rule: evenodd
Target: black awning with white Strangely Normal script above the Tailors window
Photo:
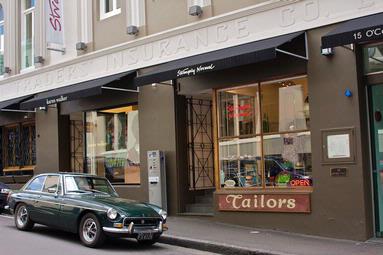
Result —
<instances>
[{"instance_id":1,"label":"black awning with white Strangely Normal script above the Tailors window","mask_svg":"<svg viewBox=\"0 0 383 255\"><path fill-rule=\"evenodd\" d=\"M135 78L135 84L141 86L271 60L277 57L277 52L307 59L305 38L305 32L296 32L174 60Z\"/></svg>"}]
</instances>

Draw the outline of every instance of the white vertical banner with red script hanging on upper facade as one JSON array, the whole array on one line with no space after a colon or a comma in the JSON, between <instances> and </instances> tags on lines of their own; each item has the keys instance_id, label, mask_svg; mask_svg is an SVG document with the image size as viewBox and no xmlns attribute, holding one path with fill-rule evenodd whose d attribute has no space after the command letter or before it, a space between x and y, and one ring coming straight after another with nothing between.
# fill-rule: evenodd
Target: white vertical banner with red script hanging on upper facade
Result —
<instances>
[{"instance_id":1,"label":"white vertical banner with red script hanging on upper facade","mask_svg":"<svg viewBox=\"0 0 383 255\"><path fill-rule=\"evenodd\" d=\"M47 43L64 45L64 0L45 0Z\"/></svg>"}]
</instances>

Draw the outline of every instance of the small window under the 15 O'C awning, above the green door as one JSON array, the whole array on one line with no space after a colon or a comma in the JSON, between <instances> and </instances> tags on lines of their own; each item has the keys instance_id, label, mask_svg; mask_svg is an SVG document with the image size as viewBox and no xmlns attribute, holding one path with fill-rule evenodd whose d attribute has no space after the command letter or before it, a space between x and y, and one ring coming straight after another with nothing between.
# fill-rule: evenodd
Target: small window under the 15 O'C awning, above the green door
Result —
<instances>
[{"instance_id":1,"label":"small window under the 15 O'C awning, above the green door","mask_svg":"<svg viewBox=\"0 0 383 255\"><path fill-rule=\"evenodd\" d=\"M366 74L383 71L383 44L365 47L363 55Z\"/></svg>"}]
</instances>

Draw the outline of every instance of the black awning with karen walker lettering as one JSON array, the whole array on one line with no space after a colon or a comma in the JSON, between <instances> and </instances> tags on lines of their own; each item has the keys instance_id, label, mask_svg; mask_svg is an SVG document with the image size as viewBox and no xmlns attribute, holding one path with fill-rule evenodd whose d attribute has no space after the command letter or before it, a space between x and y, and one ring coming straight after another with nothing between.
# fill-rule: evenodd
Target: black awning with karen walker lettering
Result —
<instances>
[{"instance_id":1,"label":"black awning with karen walker lettering","mask_svg":"<svg viewBox=\"0 0 383 255\"><path fill-rule=\"evenodd\" d=\"M102 91L105 89L138 92L137 87L133 84L135 73L136 71L119 73L95 80L77 83L75 85L53 89L47 92L42 92L37 94L34 98L21 103L21 109L46 107L51 104L101 95Z\"/></svg>"}]
</instances>

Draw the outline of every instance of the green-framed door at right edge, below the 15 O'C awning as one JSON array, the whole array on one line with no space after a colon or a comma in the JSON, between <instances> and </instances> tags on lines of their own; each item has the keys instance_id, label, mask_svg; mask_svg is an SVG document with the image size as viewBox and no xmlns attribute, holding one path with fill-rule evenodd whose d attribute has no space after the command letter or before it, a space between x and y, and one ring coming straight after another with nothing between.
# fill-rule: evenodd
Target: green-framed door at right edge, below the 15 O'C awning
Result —
<instances>
[{"instance_id":1,"label":"green-framed door at right edge, below the 15 O'C awning","mask_svg":"<svg viewBox=\"0 0 383 255\"><path fill-rule=\"evenodd\" d=\"M376 234L383 237L383 84L371 86L370 92Z\"/></svg>"}]
</instances>

